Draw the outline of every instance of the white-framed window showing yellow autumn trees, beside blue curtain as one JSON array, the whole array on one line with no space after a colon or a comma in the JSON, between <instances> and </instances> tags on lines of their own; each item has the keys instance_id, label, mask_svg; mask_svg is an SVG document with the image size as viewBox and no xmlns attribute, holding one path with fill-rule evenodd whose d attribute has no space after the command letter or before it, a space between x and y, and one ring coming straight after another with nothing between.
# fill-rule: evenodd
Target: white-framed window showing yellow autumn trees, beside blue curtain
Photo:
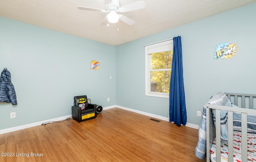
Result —
<instances>
[{"instance_id":1,"label":"white-framed window showing yellow autumn trees, beside blue curtain","mask_svg":"<svg viewBox=\"0 0 256 162\"><path fill-rule=\"evenodd\" d=\"M145 45L146 95L169 98L173 41Z\"/></svg>"}]
</instances>

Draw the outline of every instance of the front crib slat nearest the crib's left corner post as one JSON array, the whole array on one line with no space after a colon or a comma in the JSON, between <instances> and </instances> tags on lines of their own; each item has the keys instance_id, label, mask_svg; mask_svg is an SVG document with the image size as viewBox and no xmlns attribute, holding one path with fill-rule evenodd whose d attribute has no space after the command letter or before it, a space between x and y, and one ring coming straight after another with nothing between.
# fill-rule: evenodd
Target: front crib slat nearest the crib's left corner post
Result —
<instances>
[{"instance_id":1,"label":"front crib slat nearest the crib's left corner post","mask_svg":"<svg viewBox=\"0 0 256 162\"><path fill-rule=\"evenodd\" d=\"M220 110L216 109L216 162L220 162Z\"/></svg>"}]
</instances>

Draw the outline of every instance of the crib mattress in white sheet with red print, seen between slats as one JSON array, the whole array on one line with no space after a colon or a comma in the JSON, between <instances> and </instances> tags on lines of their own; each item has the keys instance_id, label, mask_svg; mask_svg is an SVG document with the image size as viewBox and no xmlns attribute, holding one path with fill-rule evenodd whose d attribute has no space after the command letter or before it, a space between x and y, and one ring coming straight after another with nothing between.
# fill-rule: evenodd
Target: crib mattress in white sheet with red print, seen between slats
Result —
<instances>
[{"instance_id":1,"label":"crib mattress in white sheet with red print, seen between slats","mask_svg":"<svg viewBox=\"0 0 256 162\"><path fill-rule=\"evenodd\" d=\"M234 162L242 162L241 158L241 132L234 131L234 144L233 144L233 160ZM248 149L248 162L256 162L256 134L248 133L247 134L247 149ZM221 140L221 162L228 162L228 141ZM212 144L210 150L211 161L216 162L216 140Z\"/></svg>"}]
</instances>

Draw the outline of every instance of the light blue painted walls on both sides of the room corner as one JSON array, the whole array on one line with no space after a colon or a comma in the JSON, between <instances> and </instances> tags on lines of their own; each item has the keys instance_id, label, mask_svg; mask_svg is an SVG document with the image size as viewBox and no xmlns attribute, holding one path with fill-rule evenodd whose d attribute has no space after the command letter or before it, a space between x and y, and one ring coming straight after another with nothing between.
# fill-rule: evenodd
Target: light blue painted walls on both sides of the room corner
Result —
<instances>
[{"instance_id":1,"label":"light blue painted walls on both sides of the room corner","mask_svg":"<svg viewBox=\"0 0 256 162\"><path fill-rule=\"evenodd\" d=\"M0 130L70 115L73 97L83 94L103 107L168 117L168 99L145 96L144 45L176 36L182 37L188 122L198 125L196 111L214 93L256 93L255 8L250 4L118 46L0 17L0 69L11 72L18 100L16 106L0 103ZM217 45L229 42L237 43L236 56L213 59ZM98 71L90 70L92 60L100 61Z\"/></svg>"}]
</instances>

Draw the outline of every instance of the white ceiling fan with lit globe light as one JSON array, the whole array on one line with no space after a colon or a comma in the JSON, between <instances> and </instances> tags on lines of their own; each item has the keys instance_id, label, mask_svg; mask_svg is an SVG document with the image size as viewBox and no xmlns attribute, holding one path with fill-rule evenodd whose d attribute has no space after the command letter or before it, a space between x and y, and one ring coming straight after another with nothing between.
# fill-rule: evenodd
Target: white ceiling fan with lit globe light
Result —
<instances>
[{"instance_id":1,"label":"white ceiling fan with lit globe light","mask_svg":"<svg viewBox=\"0 0 256 162\"><path fill-rule=\"evenodd\" d=\"M132 10L138 10L141 8L145 8L146 4L144 1L138 1L132 4L128 4L126 6L120 7L119 0L106 0L106 9L107 10L102 10L98 8L90 8L90 7L83 7L83 6L78 6L77 8L80 10L88 10L88 11L96 11L96 12L108 12L108 15L100 25L106 25L108 22L110 23L116 23L118 20L122 20L128 25L133 25L134 21L130 18L127 18L126 16L122 14L117 14L117 12L128 12Z\"/></svg>"}]
</instances>

